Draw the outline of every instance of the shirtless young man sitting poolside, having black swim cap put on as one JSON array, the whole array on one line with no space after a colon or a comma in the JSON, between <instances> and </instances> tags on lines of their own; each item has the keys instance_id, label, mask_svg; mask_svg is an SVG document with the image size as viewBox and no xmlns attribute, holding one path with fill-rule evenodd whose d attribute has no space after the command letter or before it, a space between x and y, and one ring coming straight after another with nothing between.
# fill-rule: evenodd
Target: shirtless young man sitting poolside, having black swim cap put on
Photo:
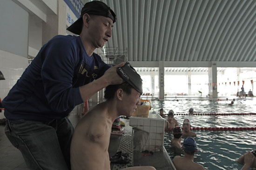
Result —
<instances>
[{"instance_id":1,"label":"shirtless young man sitting poolside, having black swim cap put on","mask_svg":"<svg viewBox=\"0 0 256 170\"><path fill-rule=\"evenodd\" d=\"M71 142L71 170L110 170L108 145L114 120L130 117L140 105L142 80L128 63L117 69L125 80L105 90L105 102L84 115L74 130ZM129 167L123 170L155 170L151 166Z\"/></svg>"}]
</instances>

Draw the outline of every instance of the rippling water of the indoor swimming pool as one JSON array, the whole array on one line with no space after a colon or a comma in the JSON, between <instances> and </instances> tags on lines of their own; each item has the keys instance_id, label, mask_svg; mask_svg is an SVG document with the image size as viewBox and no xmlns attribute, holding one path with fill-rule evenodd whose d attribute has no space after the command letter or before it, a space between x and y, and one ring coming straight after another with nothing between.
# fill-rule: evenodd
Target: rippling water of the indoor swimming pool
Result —
<instances>
[{"instance_id":1,"label":"rippling water of the indoor swimming pool","mask_svg":"<svg viewBox=\"0 0 256 170\"><path fill-rule=\"evenodd\" d=\"M235 101L199 101L170 100L151 101L151 111L159 113L164 108L165 113L173 109L175 113L188 113L190 107L196 113L255 113L256 100ZM256 127L256 115L175 115L179 125L184 119L191 121L192 127ZM206 170L240 170L242 165L236 160L248 150L256 148L256 131L194 131L197 134L198 152L195 162L202 164ZM170 152L172 135L166 133L164 146ZM182 139L183 140L183 139Z\"/></svg>"}]
</instances>

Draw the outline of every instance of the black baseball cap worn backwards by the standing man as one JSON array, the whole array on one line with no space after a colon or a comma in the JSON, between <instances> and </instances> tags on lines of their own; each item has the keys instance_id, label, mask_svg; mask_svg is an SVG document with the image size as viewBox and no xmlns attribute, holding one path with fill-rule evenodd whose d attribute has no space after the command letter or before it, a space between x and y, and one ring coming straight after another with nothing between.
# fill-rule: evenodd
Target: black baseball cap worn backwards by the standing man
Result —
<instances>
[{"instance_id":1,"label":"black baseball cap worn backwards by the standing man","mask_svg":"<svg viewBox=\"0 0 256 170\"><path fill-rule=\"evenodd\" d=\"M104 2L99 0L93 0L87 2L81 10L80 18L77 19L72 25L67 27L67 30L73 32L74 34L80 35L82 31L83 24L83 15L85 13L92 15L101 15L104 17L108 17L113 20L113 24L115 23L116 15L109 6L107 6Z\"/></svg>"}]
</instances>

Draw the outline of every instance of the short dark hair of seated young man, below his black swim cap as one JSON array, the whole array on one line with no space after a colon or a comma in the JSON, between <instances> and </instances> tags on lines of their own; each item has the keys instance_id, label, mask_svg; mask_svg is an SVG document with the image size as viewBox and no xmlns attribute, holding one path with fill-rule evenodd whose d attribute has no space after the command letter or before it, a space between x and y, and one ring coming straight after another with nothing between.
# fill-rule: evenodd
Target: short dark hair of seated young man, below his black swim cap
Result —
<instances>
[{"instance_id":1,"label":"short dark hair of seated young man, below his black swim cap","mask_svg":"<svg viewBox=\"0 0 256 170\"><path fill-rule=\"evenodd\" d=\"M128 84L128 82L123 82L122 84L108 85L106 90L104 91L104 98L107 100L111 100L115 96L116 90L121 88L125 93L132 93L132 86Z\"/></svg>"}]
</instances>

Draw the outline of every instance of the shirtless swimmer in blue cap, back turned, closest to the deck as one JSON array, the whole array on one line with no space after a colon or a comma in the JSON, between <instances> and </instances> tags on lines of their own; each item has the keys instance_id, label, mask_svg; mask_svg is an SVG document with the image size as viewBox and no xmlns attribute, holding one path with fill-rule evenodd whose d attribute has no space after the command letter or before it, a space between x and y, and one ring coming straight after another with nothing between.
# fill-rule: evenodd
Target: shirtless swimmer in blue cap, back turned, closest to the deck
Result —
<instances>
[{"instance_id":1,"label":"shirtless swimmer in blue cap, back turned, closest to the deck","mask_svg":"<svg viewBox=\"0 0 256 170\"><path fill-rule=\"evenodd\" d=\"M194 154L197 152L195 139L188 137L184 139L182 149L184 157L176 156L173 159L173 164L177 170L204 170L201 164L194 162Z\"/></svg>"}]
</instances>

